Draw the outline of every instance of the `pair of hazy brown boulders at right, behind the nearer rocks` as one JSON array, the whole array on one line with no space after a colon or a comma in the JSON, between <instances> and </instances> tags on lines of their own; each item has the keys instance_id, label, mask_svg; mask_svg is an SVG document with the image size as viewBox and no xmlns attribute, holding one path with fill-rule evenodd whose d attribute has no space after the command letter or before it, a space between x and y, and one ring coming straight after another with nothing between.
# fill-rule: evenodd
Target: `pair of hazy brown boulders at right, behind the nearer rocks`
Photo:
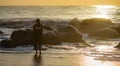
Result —
<instances>
[{"instance_id":1,"label":"pair of hazy brown boulders at right, behind the nearer rocks","mask_svg":"<svg viewBox=\"0 0 120 66\"><path fill-rule=\"evenodd\" d=\"M104 18L91 18L83 21L75 20L70 24L76 27L79 32L88 34L89 37L96 39L111 39L120 37L120 27L115 23L112 23L109 19Z\"/></svg>"}]
</instances>

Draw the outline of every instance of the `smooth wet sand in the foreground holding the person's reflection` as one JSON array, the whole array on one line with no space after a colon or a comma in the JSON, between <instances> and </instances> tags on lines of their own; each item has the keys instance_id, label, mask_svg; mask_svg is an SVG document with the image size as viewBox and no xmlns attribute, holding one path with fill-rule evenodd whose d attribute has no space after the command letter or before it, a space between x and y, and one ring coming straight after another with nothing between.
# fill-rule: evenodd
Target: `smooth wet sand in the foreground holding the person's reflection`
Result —
<instances>
[{"instance_id":1,"label":"smooth wet sand in the foreground holding the person's reflection","mask_svg":"<svg viewBox=\"0 0 120 66\"><path fill-rule=\"evenodd\" d=\"M102 61L74 53L0 53L0 66L119 66L120 61Z\"/></svg>"}]
</instances>

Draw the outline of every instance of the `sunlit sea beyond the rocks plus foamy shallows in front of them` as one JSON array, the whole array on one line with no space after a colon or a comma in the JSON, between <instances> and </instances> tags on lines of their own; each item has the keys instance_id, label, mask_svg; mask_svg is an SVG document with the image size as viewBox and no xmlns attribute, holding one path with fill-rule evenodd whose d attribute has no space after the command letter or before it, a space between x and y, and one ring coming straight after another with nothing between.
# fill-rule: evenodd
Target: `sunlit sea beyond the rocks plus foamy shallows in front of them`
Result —
<instances>
[{"instance_id":1,"label":"sunlit sea beyond the rocks plus foamy shallows in front of them","mask_svg":"<svg viewBox=\"0 0 120 66\"><path fill-rule=\"evenodd\" d=\"M114 23L120 23L120 7L39 7L39 6L0 6L0 19L52 19L52 20L70 20L73 18L79 20L88 18L107 18ZM11 32L17 30L16 28L0 27L0 31L3 31L5 36L0 36L0 40L8 39ZM87 38L87 36L83 36ZM68 43L63 42L61 45L44 46L46 50L42 50L43 54L84 54L86 56L95 57L97 60L105 61L120 61L120 49L114 48L119 43L120 39L114 40L91 40L85 39L85 41L94 46L87 47L82 43ZM19 46L16 48L2 48L0 47L0 53L35 53L33 46ZM63 55L62 55L63 56ZM52 66L52 65L51 65Z\"/></svg>"}]
</instances>

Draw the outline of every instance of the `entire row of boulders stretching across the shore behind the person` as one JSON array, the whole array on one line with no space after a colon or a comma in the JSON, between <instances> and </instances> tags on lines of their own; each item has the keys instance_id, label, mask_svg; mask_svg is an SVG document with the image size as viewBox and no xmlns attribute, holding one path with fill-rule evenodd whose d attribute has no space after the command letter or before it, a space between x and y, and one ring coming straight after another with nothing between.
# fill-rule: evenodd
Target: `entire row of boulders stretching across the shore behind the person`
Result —
<instances>
[{"instance_id":1,"label":"entire row of boulders stretching across the shore behind the person","mask_svg":"<svg viewBox=\"0 0 120 66\"><path fill-rule=\"evenodd\" d=\"M26 22L25 24L27 25ZM91 18L79 21L77 18L69 22L42 22L43 29L43 44L56 45L61 42L84 42L82 34L88 34L89 37L96 39L113 39L120 37L119 24L112 23L109 19ZM23 22L22 22L23 24ZM23 25L25 25L23 24ZM9 24L3 24L9 27ZM3 26L0 25L0 26ZM15 22L16 25L16 22ZM23 26L21 25L21 26ZM33 22L27 27L32 27ZM0 34L3 34L1 31ZM21 45L33 45L33 30L32 28L13 31L9 40L2 40L2 47L17 47Z\"/></svg>"}]
</instances>

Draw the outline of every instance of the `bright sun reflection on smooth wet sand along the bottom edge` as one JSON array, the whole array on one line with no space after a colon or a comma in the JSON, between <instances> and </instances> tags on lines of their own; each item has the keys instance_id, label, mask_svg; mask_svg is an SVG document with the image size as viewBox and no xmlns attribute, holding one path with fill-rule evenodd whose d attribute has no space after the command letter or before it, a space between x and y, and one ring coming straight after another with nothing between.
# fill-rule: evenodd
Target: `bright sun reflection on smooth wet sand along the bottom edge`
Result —
<instances>
[{"instance_id":1,"label":"bright sun reflection on smooth wet sand along the bottom edge","mask_svg":"<svg viewBox=\"0 0 120 66\"><path fill-rule=\"evenodd\" d=\"M94 57L83 56L79 58L78 66L114 66L110 61L95 60Z\"/></svg>"}]
</instances>

